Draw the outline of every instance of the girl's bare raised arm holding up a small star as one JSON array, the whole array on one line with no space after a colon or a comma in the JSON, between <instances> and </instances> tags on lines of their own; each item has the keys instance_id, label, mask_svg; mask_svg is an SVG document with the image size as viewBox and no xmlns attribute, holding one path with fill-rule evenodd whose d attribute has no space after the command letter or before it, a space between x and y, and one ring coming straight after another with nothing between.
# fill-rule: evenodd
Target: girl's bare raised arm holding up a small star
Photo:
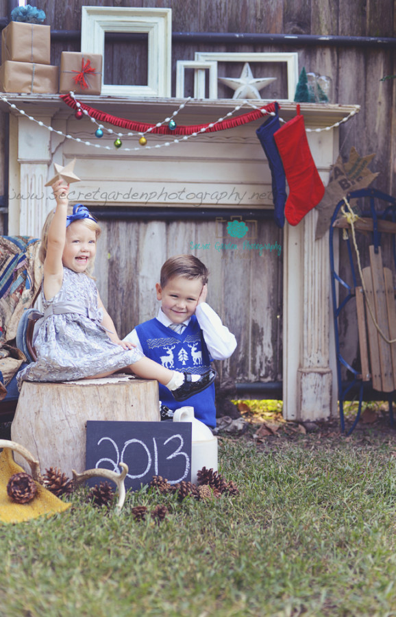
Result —
<instances>
[{"instance_id":1,"label":"girl's bare raised arm holding up a small star","mask_svg":"<svg viewBox=\"0 0 396 617\"><path fill-rule=\"evenodd\" d=\"M69 184L62 178L52 186L56 208L48 229L47 254L44 262L43 289L50 300L58 293L63 278L62 255L66 243L66 216L69 205Z\"/></svg>"}]
</instances>

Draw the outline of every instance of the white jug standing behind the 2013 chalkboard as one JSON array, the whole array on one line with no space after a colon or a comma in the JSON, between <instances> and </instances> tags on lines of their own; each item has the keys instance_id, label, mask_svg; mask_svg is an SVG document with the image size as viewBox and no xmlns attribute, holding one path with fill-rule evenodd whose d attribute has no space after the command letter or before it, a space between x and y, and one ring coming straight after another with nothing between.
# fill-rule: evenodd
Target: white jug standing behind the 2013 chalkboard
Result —
<instances>
[{"instance_id":1,"label":"white jug standing behind the 2013 chalkboard","mask_svg":"<svg viewBox=\"0 0 396 617\"><path fill-rule=\"evenodd\" d=\"M206 467L217 471L217 437L210 428L194 417L194 407L180 407L173 415L173 422L191 422L191 482L197 483L197 472Z\"/></svg>"}]
</instances>

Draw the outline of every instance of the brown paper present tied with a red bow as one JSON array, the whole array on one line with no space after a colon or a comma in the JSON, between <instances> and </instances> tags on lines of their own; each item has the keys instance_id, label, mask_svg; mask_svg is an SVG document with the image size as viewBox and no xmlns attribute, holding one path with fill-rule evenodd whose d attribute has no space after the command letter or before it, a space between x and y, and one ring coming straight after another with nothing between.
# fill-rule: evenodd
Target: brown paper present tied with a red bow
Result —
<instances>
[{"instance_id":1,"label":"brown paper present tied with a red bow","mask_svg":"<svg viewBox=\"0 0 396 617\"><path fill-rule=\"evenodd\" d=\"M62 51L60 56L61 94L99 95L102 84L102 56L100 53Z\"/></svg>"}]
</instances>

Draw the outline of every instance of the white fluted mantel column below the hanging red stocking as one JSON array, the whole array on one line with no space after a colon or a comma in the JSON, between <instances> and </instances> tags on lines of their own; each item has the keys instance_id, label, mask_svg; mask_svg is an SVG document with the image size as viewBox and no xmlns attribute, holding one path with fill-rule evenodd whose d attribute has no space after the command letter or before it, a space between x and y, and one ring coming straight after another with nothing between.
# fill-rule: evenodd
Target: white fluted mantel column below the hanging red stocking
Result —
<instances>
[{"instance_id":1,"label":"white fluted mantel column below the hanging red stocking","mask_svg":"<svg viewBox=\"0 0 396 617\"><path fill-rule=\"evenodd\" d=\"M334 415L334 341L330 338L329 232L315 240L317 212L297 227L286 225L284 243L284 417L321 420Z\"/></svg>"}]
</instances>

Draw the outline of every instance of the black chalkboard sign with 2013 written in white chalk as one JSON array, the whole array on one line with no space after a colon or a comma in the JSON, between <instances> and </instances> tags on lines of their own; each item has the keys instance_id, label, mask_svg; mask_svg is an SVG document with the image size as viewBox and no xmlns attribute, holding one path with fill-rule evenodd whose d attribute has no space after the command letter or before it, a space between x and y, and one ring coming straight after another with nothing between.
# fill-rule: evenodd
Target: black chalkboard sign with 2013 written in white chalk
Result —
<instances>
[{"instance_id":1,"label":"black chalkboard sign with 2013 written in white chalk","mask_svg":"<svg viewBox=\"0 0 396 617\"><path fill-rule=\"evenodd\" d=\"M128 465L125 489L137 490L153 476L169 483L191 479L191 422L86 423L86 469L121 472ZM99 479L88 483L95 485Z\"/></svg>"}]
</instances>

